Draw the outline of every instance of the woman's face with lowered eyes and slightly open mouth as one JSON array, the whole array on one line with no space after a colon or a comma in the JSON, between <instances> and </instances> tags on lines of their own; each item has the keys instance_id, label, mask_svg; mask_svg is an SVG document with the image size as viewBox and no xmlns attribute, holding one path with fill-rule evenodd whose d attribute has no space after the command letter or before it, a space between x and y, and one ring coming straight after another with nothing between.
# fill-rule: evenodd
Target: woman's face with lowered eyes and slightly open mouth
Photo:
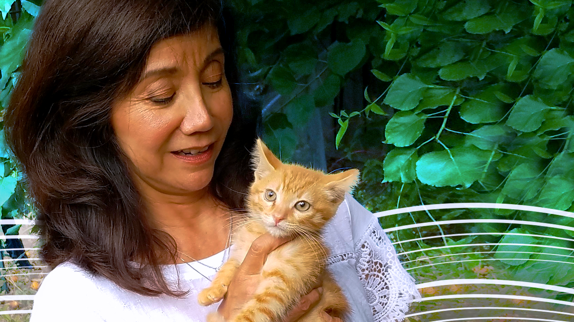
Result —
<instances>
[{"instance_id":1,"label":"woman's face with lowered eyes and slightly open mouth","mask_svg":"<svg viewBox=\"0 0 574 322\"><path fill-rule=\"evenodd\" d=\"M215 28L157 42L111 124L144 196L189 195L211 181L231 123L231 92Z\"/></svg>"}]
</instances>

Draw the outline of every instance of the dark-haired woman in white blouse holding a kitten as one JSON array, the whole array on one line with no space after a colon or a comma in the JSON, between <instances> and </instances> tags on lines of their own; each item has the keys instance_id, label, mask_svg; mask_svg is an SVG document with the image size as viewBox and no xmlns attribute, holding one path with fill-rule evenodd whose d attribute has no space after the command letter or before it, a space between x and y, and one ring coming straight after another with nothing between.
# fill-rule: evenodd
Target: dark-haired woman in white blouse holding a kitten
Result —
<instances>
[{"instance_id":1,"label":"dark-haired woman in white blouse holding a kitten","mask_svg":"<svg viewBox=\"0 0 574 322\"><path fill-rule=\"evenodd\" d=\"M286 240L259 238L226 299L196 304L252 178L257 115L236 95L227 29L218 1L44 4L5 117L53 269L31 321L205 321L249 298ZM325 238L352 321L399 319L417 295L412 279L372 215L352 198L339 212Z\"/></svg>"}]
</instances>

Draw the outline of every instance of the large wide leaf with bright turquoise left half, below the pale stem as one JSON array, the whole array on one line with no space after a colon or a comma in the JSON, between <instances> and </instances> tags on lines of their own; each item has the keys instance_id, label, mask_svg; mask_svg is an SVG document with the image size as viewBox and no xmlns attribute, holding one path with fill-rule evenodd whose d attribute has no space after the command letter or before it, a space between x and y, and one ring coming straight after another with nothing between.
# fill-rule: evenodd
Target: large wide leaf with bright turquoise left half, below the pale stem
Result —
<instances>
[{"instance_id":1,"label":"large wide leaf with bright turquoise left half, below the pale stem","mask_svg":"<svg viewBox=\"0 0 574 322\"><path fill-rule=\"evenodd\" d=\"M429 152L417 161L417 178L435 187L460 185L467 188L482 177L490 156L491 151L476 147Z\"/></svg>"}]
</instances>

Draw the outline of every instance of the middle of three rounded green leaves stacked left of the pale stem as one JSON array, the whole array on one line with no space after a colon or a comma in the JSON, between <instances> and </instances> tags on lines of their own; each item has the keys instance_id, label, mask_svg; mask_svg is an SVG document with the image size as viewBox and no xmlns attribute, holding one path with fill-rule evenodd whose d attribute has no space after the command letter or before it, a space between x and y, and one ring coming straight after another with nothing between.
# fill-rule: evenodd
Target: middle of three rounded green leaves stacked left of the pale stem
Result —
<instances>
[{"instance_id":1,"label":"middle of three rounded green leaves stacked left of the pale stem","mask_svg":"<svg viewBox=\"0 0 574 322\"><path fill-rule=\"evenodd\" d=\"M395 113L385 127L385 143L397 147L406 147L413 144L425 127L425 117L410 111Z\"/></svg>"}]
</instances>

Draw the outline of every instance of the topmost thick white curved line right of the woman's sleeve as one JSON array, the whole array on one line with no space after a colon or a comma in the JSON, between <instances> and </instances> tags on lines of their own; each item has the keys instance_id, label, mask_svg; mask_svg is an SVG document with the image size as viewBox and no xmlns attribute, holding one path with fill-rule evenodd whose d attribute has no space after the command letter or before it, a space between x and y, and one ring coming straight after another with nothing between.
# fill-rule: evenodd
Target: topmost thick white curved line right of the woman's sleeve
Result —
<instances>
[{"instance_id":1,"label":"topmost thick white curved line right of the woman's sleeve","mask_svg":"<svg viewBox=\"0 0 574 322\"><path fill-rule=\"evenodd\" d=\"M436 209L456 209L456 208L490 208L490 209L513 209L513 210L526 210L526 211L536 211L537 213L560 215L564 217L574 218L574 213L569 211L562 211L556 209L549 209L543 207L525 206L525 205L513 205L511 203L487 203L487 202L460 202L460 203L439 203L437 205L421 205L404 207L399 209L391 209L381 211L380 213L375 213L377 217L385 217L395 214L402 213L412 213L413 211L426 211L426 210L436 210Z\"/></svg>"}]
</instances>

